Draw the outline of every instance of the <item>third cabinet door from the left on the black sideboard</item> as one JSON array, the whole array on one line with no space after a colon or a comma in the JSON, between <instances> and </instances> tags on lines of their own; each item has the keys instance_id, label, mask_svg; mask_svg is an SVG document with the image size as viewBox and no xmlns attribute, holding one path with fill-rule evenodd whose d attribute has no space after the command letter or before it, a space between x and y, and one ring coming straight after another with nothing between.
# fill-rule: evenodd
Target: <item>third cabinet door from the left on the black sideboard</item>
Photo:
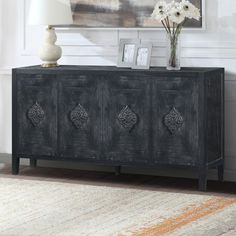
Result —
<instances>
[{"instance_id":1,"label":"third cabinet door from the left on the black sideboard","mask_svg":"<svg viewBox=\"0 0 236 236\"><path fill-rule=\"evenodd\" d=\"M109 161L149 161L150 96L148 80L113 76L104 84L104 156Z\"/></svg>"}]
</instances>

